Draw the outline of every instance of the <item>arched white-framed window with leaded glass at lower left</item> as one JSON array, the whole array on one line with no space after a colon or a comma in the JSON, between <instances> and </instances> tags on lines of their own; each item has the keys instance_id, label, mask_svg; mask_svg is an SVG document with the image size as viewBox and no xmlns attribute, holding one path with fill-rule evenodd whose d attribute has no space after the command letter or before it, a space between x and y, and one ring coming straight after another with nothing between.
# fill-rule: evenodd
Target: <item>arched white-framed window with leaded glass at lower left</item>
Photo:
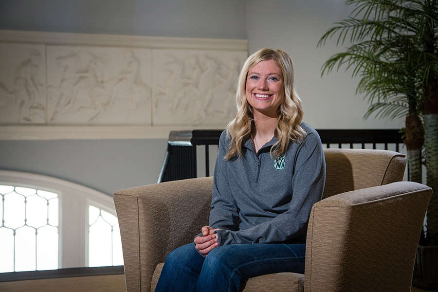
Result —
<instances>
[{"instance_id":1,"label":"arched white-framed window with leaded glass at lower left","mask_svg":"<svg viewBox=\"0 0 438 292\"><path fill-rule=\"evenodd\" d=\"M112 197L0 170L0 272L123 265Z\"/></svg>"}]
</instances>

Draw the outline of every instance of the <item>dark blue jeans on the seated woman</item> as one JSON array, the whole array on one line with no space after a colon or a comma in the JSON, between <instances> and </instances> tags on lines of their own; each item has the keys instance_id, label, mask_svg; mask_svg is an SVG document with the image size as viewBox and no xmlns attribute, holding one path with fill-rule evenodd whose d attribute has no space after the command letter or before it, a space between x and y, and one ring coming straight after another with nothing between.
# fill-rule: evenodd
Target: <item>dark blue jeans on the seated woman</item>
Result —
<instances>
[{"instance_id":1,"label":"dark blue jeans on the seated woman","mask_svg":"<svg viewBox=\"0 0 438 292\"><path fill-rule=\"evenodd\" d=\"M230 244L206 257L194 243L183 245L166 258L155 292L240 291L248 278L264 274L304 274L306 244Z\"/></svg>"}]
</instances>

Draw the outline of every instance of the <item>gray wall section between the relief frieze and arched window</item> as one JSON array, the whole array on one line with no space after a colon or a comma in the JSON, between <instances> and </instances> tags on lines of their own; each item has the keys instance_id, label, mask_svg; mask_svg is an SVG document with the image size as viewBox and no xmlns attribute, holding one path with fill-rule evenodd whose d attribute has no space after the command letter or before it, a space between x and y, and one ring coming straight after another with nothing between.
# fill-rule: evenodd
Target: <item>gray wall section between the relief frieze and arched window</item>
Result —
<instances>
[{"instance_id":1,"label":"gray wall section between the relief frieze and arched window","mask_svg":"<svg viewBox=\"0 0 438 292\"><path fill-rule=\"evenodd\" d=\"M48 175L106 194L156 183L161 139L0 141L0 169Z\"/></svg>"}]
</instances>

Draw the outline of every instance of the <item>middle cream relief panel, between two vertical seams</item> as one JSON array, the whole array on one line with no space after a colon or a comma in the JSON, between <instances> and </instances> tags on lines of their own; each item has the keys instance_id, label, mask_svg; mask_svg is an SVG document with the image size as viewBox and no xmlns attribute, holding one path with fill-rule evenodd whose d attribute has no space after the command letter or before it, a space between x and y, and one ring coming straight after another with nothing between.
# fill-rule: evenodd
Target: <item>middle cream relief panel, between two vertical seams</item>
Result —
<instances>
[{"instance_id":1,"label":"middle cream relief panel, between two vertical seams","mask_svg":"<svg viewBox=\"0 0 438 292\"><path fill-rule=\"evenodd\" d=\"M150 125L151 50L47 46L53 125Z\"/></svg>"}]
</instances>

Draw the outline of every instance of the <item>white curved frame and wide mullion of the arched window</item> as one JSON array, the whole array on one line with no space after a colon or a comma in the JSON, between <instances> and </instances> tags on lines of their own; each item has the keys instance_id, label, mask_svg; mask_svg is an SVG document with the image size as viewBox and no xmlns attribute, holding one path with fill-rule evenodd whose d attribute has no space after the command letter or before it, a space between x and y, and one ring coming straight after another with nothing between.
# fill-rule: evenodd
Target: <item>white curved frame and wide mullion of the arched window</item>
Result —
<instances>
[{"instance_id":1,"label":"white curved frame and wide mullion of the arched window","mask_svg":"<svg viewBox=\"0 0 438 292\"><path fill-rule=\"evenodd\" d=\"M0 184L58 194L58 269L89 266L88 206L116 216L112 196L78 183L21 171L0 170Z\"/></svg>"}]
</instances>

